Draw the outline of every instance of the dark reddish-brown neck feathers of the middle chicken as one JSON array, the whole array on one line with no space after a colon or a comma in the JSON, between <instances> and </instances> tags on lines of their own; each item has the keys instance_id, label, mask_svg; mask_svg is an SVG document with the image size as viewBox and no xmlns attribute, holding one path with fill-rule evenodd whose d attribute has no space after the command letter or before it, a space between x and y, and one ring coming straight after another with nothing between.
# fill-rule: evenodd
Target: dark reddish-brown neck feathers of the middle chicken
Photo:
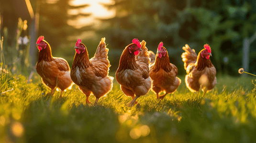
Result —
<instances>
[{"instance_id":1,"label":"dark reddish-brown neck feathers of the middle chicken","mask_svg":"<svg viewBox=\"0 0 256 143\"><path fill-rule=\"evenodd\" d=\"M117 71L126 69L137 70L138 68L139 65L136 63L134 53L130 53L129 49L126 47L122 52Z\"/></svg>"}]
</instances>

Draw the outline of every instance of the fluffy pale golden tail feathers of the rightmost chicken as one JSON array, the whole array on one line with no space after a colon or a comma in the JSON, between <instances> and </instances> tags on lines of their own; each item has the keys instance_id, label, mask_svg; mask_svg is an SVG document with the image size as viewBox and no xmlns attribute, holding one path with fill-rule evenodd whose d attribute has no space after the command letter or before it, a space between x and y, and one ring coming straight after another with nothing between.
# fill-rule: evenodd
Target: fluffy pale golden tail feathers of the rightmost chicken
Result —
<instances>
[{"instance_id":1,"label":"fluffy pale golden tail feathers of the rightmost chicken","mask_svg":"<svg viewBox=\"0 0 256 143\"><path fill-rule=\"evenodd\" d=\"M182 49L185 51L182 53L181 58L184 61L184 69L187 70L187 67L190 63L195 63L197 61L197 53L194 49L191 49L188 44L183 46Z\"/></svg>"}]
</instances>

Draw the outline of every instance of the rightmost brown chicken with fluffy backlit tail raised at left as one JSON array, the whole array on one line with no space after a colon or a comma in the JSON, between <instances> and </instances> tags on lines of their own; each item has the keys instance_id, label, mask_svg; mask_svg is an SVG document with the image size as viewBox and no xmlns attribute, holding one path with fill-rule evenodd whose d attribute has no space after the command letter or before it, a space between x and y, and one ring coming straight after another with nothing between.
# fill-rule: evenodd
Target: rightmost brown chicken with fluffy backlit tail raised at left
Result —
<instances>
[{"instance_id":1,"label":"rightmost brown chicken with fluffy backlit tail raised at left","mask_svg":"<svg viewBox=\"0 0 256 143\"><path fill-rule=\"evenodd\" d=\"M190 49L186 44L182 47L185 51L182 53L182 61L184 61L184 69L187 72L185 82L191 92L201 90L204 95L207 91L214 88L216 80L216 69L211 63L211 47L208 44L204 45L198 55L194 49Z\"/></svg>"}]
</instances>

